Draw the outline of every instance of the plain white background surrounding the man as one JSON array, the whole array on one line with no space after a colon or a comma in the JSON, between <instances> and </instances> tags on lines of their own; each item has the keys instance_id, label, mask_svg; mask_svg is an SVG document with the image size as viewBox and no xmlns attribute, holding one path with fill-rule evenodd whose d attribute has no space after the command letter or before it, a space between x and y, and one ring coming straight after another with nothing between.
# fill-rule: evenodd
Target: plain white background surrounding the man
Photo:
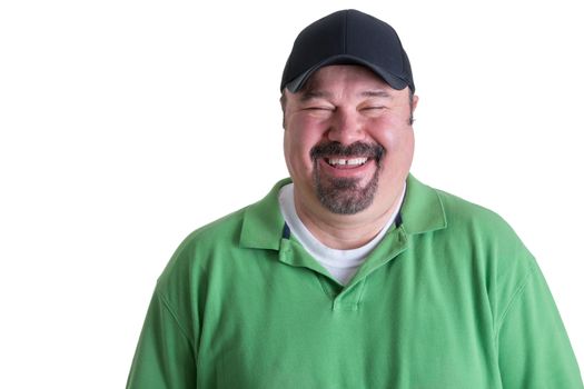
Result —
<instances>
[{"instance_id":1,"label":"plain white background surrounding the man","mask_svg":"<svg viewBox=\"0 0 584 389\"><path fill-rule=\"evenodd\" d=\"M414 174L511 222L584 363L580 3L3 1L0 387L125 386L178 243L287 174L281 69L343 8L409 54Z\"/></svg>"}]
</instances>

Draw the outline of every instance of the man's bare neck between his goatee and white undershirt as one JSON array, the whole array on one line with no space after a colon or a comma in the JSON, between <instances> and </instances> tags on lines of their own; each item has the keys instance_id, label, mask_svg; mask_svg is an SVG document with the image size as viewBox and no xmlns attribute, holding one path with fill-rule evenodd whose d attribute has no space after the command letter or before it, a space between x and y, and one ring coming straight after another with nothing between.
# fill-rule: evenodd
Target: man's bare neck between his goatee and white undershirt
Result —
<instances>
[{"instance_id":1,"label":"man's bare neck between his goatee and white undershirt","mask_svg":"<svg viewBox=\"0 0 584 389\"><path fill-rule=\"evenodd\" d=\"M303 202L295 192L295 207L306 228L323 245L338 250L350 250L365 246L389 222L402 203L403 187L385 207L374 203L356 215L337 215L316 205Z\"/></svg>"}]
</instances>

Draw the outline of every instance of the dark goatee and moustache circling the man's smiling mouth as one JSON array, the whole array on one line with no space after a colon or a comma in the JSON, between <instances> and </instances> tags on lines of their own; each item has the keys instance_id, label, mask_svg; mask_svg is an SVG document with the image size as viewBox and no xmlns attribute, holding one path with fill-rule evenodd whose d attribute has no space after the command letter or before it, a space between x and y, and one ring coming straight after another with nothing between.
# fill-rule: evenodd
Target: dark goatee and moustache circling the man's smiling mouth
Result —
<instances>
[{"instance_id":1,"label":"dark goatee and moustache circling the man's smiling mouth","mask_svg":"<svg viewBox=\"0 0 584 389\"><path fill-rule=\"evenodd\" d=\"M320 203L333 213L355 215L368 208L377 193L379 182L380 160L385 149L375 143L356 142L343 146L339 142L317 144L310 150L314 163L313 179L316 194ZM363 183L360 178L330 178L324 177L318 168L319 158L335 157L366 157L375 159L377 169L368 182Z\"/></svg>"}]
</instances>

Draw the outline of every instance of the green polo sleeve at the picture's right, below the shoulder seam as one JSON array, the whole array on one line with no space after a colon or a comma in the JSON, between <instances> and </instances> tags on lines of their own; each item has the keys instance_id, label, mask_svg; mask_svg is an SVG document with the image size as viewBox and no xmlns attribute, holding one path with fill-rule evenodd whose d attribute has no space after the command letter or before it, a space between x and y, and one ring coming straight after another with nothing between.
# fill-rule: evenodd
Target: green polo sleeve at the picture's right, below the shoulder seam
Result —
<instances>
[{"instance_id":1,"label":"green polo sleeve at the picture's right, below the shoulder seam","mask_svg":"<svg viewBox=\"0 0 584 389\"><path fill-rule=\"evenodd\" d=\"M508 303L498 331L505 389L582 389L567 333L535 261Z\"/></svg>"}]
</instances>

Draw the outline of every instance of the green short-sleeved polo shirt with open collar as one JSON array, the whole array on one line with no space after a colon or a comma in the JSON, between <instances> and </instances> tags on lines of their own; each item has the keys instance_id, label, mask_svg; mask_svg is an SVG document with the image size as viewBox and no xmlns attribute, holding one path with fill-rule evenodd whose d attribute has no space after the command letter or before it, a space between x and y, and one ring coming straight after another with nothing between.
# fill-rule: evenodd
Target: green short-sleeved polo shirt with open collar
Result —
<instances>
[{"instance_id":1,"label":"green short-sleeved polo shirt with open collar","mask_svg":"<svg viewBox=\"0 0 584 389\"><path fill-rule=\"evenodd\" d=\"M158 280L127 388L583 388L532 255L497 215L413 177L339 285L277 183L191 233Z\"/></svg>"}]
</instances>

